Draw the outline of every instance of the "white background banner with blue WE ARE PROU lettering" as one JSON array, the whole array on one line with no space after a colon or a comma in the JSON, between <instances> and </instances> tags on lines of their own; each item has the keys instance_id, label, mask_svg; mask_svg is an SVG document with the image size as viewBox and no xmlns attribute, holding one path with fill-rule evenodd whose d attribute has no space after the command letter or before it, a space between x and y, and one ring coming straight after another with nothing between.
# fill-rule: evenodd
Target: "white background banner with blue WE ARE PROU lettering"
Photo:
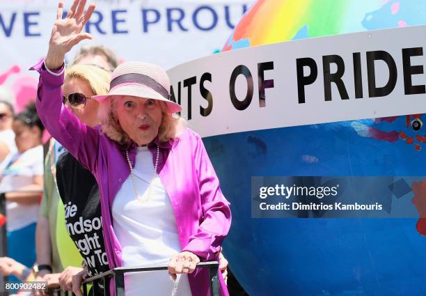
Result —
<instances>
[{"instance_id":1,"label":"white background banner with blue WE ARE PROU lettering","mask_svg":"<svg viewBox=\"0 0 426 296\"><path fill-rule=\"evenodd\" d=\"M122 61L168 69L221 50L254 0L97 0L86 31ZM90 3L90 1L88 1ZM65 0L65 10L72 0ZM58 1L0 1L0 98L15 96L17 111L36 97L37 73L47 52ZM66 13L66 11L65 11ZM66 56L71 61L79 46Z\"/></svg>"}]
</instances>

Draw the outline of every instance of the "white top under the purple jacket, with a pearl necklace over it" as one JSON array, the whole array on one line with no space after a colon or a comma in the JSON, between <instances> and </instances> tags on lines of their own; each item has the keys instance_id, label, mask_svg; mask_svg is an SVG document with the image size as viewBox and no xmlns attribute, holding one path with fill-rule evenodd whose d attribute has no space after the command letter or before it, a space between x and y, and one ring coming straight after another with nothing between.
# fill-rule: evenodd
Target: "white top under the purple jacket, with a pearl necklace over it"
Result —
<instances>
[{"instance_id":1,"label":"white top under the purple jacket, with a pearl necklace over it","mask_svg":"<svg viewBox=\"0 0 426 296\"><path fill-rule=\"evenodd\" d=\"M152 154L146 147L139 147L133 169L139 194L146 203L136 200L129 176L113 201L113 229L123 248L123 266L166 266L173 254L181 251L176 219L170 198L155 175ZM175 290L177 288L177 290ZM134 272L125 276L125 295L179 295L191 296L188 276L178 277L176 283L168 271Z\"/></svg>"}]
</instances>

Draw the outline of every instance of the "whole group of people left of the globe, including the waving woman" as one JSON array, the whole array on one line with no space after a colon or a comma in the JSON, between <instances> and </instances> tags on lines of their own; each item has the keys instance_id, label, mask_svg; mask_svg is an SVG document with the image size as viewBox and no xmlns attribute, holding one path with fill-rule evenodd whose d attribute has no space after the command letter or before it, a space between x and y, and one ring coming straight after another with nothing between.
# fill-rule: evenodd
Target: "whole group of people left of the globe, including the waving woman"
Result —
<instances>
[{"instance_id":1,"label":"whole group of people left of the globe, including the waving woman","mask_svg":"<svg viewBox=\"0 0 426 296\"><path fill-rule=\"evenodd\" d=\"M0 274L81 295L88 276L167 265L127 274L126 295L205 296L208 271L196 264L219 260L228 295L221 244L230 205L203 141L176 115L181 107L157 65L119 65L110 49L89 46L65 67L65 54L92 38L82 29L95 6L85 6L75 0L63 19L59 2L47 55L31 68L40 75L35 103L14 114L0 98L8 219ZM52 138L44 153L45 128ZM92 292L104 295L104 286Z\"/></svg>"}]
</instances>

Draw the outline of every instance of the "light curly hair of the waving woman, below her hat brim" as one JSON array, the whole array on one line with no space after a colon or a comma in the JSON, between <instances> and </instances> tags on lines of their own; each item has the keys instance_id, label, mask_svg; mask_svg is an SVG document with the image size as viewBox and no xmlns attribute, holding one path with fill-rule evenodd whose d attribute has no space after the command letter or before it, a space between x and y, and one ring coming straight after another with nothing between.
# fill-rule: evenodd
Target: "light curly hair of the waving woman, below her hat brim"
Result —
<instances>
[{"instance_id":1,"label":"light curly hair of the waving woman, below her hat brim","mask_svg":"<svg viewBox=\"0 0 426 296\"><path fill-rule=\"evenodd\" d=\"M98 115L101 120L101 131L107 135L109 139L116 141L121 145L125 145L130 143L132 140L123 128L121 128L120 123L118 123L116 99L116 97L110 97L100 104ZM158 139L161 143L164 143L169 139L177 138L182 131L182 128L186 125L186 122L184 119L168 113L166 102L159 101L159 104L163 116L158 130Z\"/></svg>"}]
</instances>

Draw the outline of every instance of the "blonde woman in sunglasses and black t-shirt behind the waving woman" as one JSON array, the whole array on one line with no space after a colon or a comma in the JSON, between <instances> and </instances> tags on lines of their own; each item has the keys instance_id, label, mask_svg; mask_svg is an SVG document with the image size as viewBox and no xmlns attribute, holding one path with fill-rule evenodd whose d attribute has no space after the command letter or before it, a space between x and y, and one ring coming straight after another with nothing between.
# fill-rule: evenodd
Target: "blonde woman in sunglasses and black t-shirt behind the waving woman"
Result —
<instances>
[{"instance_id":1,"label":"blonde woman in sunglasses and black t-shirt behind the waving woman","mask_svg":"<svg viewBox=\"0 0 426 296\"><path fill-rule=\"evenodd\" d=\"M110 79L111 74L97 66L71 66L65 72L63 104L79 118L81 123L94 127L98 124L97 113L100 103L93 100L92 97L107 93ZM66 150L59 153L60 146L60 143L54 141L52 149L49 151L51 158L49 169L52 173L46 174L50 178L56 176L57 187L55 185L52 190L58 190L59 194L52 192L50 193L51 198L61 198L63 205L65 205L65 221L57 221L57 223L64 224L65 222L63 229L66 228L68 235L70 235L81 257L86 262L87 268L84 270L84 274L93 276L100 272L106 272L109 270L108 262L100 260L106 255L100 222L100 196L96 180L92 173L84 169L77 159ZM70 209L72 209L71 214ZM90 221L90 224L91 221L95 221L95 224L97 224L95 228L81 228L79 231L74 231L75 226L80 223L80 219L85 221L86 224L88 221ZM86 237L96 240L96 246L87 247ZM70 248L74 247L74 244L68 246L65 244L68 240L63 240L63 237L56 238L58 239L58 253L62 263L68 262L73 266L64 265L66 268L62 274L48 274L45 276L45 280L52 284L58 283L63 290L72 290L72 276L83 270L79 267L81 266L81 257L79 260L72 260ZM99 256L97 256L98 254ZM103 295L100 287L94 288L95 295Z\"/></svg>"}]
</instances>

